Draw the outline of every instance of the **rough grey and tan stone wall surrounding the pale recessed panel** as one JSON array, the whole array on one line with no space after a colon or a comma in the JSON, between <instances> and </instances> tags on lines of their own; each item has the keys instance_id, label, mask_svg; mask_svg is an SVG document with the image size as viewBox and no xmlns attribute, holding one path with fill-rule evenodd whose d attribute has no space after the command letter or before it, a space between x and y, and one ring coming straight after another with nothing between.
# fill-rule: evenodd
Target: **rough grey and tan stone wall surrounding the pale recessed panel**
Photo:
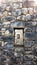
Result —
<instances>
[{"instance_id":1,"label":"rough grey and tan stone wall surrounding the pale recessed panel","mask_svg":"<svg viewBox=\"0 0 37 65\"><path fill-rule=\"evenodd\" d=\"M34 1L4 0L0 4L0 58L6 59L6 62L0 60L2 64L37 64L34 62L37 59L36 8ZM14 45L14 28L24 29L23 46Z\"/></svg>"}]
</instances>

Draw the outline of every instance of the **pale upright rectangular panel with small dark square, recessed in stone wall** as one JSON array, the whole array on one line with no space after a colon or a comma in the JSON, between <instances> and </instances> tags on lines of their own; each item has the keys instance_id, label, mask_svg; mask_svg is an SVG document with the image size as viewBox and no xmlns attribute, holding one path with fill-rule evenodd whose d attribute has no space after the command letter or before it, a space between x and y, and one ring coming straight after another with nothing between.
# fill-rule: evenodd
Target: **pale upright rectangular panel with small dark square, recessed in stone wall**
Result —
<instances>
[{"instance_id":1,"label":"pale upright rectangular panel with small dark square, recessed in stone wall","mask_svg":"<svg viewBox=\"0 0 37 65\"><path fill-rule=\"evenodd\" d=\"M23 45L24 28L14 28L15 45Z\"/></svg>"}]
</instances>

